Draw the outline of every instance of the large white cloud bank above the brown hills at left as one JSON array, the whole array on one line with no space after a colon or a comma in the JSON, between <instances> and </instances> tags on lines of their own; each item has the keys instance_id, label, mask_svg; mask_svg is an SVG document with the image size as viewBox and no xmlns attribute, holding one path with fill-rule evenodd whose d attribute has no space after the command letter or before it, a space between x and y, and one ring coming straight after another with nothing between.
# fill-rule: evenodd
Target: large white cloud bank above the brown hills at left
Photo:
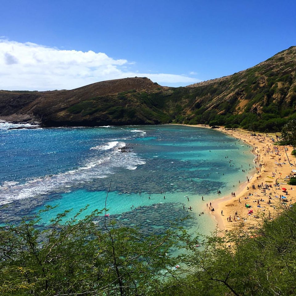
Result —
<instances>
[{"instance_id":1,"label":"large white cloud bank above the brown hills at left","mask_svg":"<svg viewBox=\"0 0 296 296\"><path fill-rule=\"evenodd\" d=\"M0 39L0 89L73 89L98 81L146 76L162 85L197 82L175 74L128 72L134 62L102 52L61 50L35 43Z\"/></svg>"}]
</instances>

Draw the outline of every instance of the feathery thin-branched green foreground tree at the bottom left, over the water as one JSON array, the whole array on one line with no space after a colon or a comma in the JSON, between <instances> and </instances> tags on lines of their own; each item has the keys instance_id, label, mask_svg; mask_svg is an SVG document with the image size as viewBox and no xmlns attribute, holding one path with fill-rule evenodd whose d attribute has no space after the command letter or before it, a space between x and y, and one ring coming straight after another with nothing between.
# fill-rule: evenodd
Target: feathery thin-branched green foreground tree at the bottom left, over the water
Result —
<instances>
[{"instance_id":1,"label":"feathery thin-branched green foreground tree at the bottom left, over the water","mask_svg":"<svg viewBox=\"0 0 296 296\"><path fill-rule=\"evenodd\" d=\"M178 272L171 249L185 232L175 223L144 237L102 211L80 219L84 210L66 222L65 211L45 228L40 213L0 227L1 295L147 295Z\"/></svg>"}]
</instances>

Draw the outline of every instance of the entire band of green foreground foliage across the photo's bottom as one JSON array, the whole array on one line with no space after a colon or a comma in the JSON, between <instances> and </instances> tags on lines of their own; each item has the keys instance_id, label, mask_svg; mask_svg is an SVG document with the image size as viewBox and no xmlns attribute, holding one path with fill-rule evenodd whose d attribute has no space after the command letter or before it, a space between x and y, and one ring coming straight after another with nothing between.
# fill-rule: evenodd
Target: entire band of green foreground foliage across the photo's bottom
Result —
<instances>
[{"instance_id":1,"label":"entire band of green foreground foliage across the photo's bottom","mask_svg":"<svg viewBox=\"0 0 296 296\"><path fill-rule=\"evenodd\" d=\"M39 215L1 227L1 295L296 294L294 207L252 236L214 234L200 247L175 224L143 237L106 220L99 227L101 212L79 220L81 213L66 223L60 214L45 230L36 227ZM185 255L170 255L178 245Z\"/></svg>"}]
</instances>

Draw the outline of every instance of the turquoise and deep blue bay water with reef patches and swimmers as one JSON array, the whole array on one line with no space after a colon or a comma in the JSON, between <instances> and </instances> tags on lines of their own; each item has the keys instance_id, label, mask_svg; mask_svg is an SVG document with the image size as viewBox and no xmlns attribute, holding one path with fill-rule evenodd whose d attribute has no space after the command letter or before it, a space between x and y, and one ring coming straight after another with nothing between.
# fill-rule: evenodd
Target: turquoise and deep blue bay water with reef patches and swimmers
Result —
<instances>
[{"instance_id":1,"label":"turquoise and deep blue bay water with reef patches and swimmers","mask_svg":"<svg viewBox=\"0 0 296 296\"><path fill-rule=\"evenodd\" d=\"M45 204L58 205L43 215L45 224L87 204L89 214L105 208L110 187L108 219L156 229L190 214L186 227L206 233L215 228L206 203L219 197L217 190L223 196L237 189L253 168L250 147L216 130L0 125L0 204L8 205L1 210L2 222L34 214Z\"/></svg>"}]
</instances>

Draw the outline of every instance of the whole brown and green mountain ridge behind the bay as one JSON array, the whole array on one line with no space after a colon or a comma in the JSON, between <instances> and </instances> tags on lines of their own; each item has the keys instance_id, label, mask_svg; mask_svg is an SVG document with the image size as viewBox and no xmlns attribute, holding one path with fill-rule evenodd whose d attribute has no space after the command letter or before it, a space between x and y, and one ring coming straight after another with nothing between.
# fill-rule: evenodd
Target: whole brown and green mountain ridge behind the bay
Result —
<instances>
[{"instance_id":1,"label":"whole brown and green mountain ridge behind the bay","mask_svg":"<svg viewBox=\"0 0 296 296\"><path fill-rule=\"evenodd\" d=\"M186 87L134 77L72 90L0 91L0 119L43 126L175 122L277 130L295 114L296 46L251 68Z\"/></svg>"}]
</instances>

